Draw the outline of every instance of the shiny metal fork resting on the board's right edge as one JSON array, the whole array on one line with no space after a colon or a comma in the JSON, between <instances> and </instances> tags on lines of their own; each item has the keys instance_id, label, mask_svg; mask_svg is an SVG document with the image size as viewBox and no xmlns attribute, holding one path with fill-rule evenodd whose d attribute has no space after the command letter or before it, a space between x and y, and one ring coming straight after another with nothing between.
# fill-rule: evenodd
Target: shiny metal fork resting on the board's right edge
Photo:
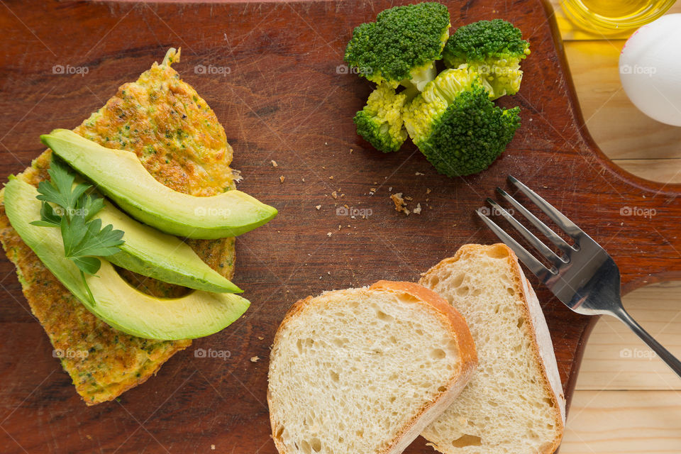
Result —
<instances>
[{"instance_id":1,"label":"shiny metal fork resting on the board's right edge","mask_svg":"<svg viewBox=\"0 0 681 454\"><path fill-rule=\"evenodd\" d=\"M541 282L555 294L565 306L569 307L577 314L601 315L607 314L616 317L625 323L631 331L641 338L643 342L664 361L676 374L681 377L681 361L672 355L653 336L644 330L641 325L624 310L620 297L620 275L619 268L610 255L592 238L590 238L575 223L566 218L560 211L555 209L548 202L538 196L532 189L519 182L509 175L509 182L520 192L525 194L541 211L550 218L557 226L572 238L573 245L568 244L563 238L558 236L553 230L548 228L536 216L531 214L528 209L522 206L516 199L511 197L504 189L497 187L497 192L508 201L514 209L519 211L538 231L540 231L561 254L553 252L539 238L533 235L528 229L514 218L509 211L506 211L493 199L488 198L487 202L506 218L511 226L518 231L523 238L540 253L552 265L550 268L544 266L539 260L533 257L516 240L511 238L497 223L487 217L481 209L476 213L487 226L494 231L500 240L511 248L518 258L533 272Z\"/></svg>"}]
</instances>

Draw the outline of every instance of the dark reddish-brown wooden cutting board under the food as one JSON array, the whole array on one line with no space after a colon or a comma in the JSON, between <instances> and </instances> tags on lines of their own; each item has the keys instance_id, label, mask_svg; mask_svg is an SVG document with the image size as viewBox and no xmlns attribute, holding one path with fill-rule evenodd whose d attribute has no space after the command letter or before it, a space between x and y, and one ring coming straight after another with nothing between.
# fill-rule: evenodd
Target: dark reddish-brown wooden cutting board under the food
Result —
<instances>
[{"instance_id":1,"label":"dark reddish-brown wooden cutting board under the food","mask_svg":"<svg viewBox=\"0 0 681 454\"><path fill-rule=\"evenodd\" d=\"M495 242L474 210L494 187L511 189L509 174L609 250L624 292L681 277L681 186L616 169L589 138L550 8L540 0L446 3L454 27L505 18L532 49L520 93L499 100L522 108L509 149L486 172L455 179L438 175L411 144L384 155L355 135L351 118L370 84L348 74L343 50L353 28L389 1L0 6L0 175L30 164L43 150L40 133L73 128L181 46L174 67L225 126L240 189L279 209L237 242L235 281L253 303L245 317L196 341L117 402L94 407L52 358L3 257L0 452L275 453L267 358L289 306L327 289L416 280L463 243ZM412 197L409 208L420 203L421 214L397 213L391 192ZM351 218L344 205L370 216ZM531 280L570 396L595 319L572 314ZM199 358L200 348L229 358ZM406 452L433 450L419 438Z\"/></svg>"}]
</instances>

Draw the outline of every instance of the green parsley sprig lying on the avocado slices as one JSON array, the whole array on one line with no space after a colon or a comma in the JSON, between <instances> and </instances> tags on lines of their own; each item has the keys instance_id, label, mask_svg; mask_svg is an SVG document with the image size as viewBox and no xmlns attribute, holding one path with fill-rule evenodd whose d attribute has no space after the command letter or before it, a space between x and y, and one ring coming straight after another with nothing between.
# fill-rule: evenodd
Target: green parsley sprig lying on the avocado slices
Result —
<instances>
[{"instance_id":1,"label":"green parsley sprig lying on the avocado slices","mask_svg":"<svg viewBox=\"0 0 681 454\"><path fill-rule=\"evenodd\" d=\"M111 224L101 227L101 219L92 217L104 208L104 199L92 192L91 184L75 183L70 167L52 157L50 181L38 183L38 196L43 202L40 221L34 226L58 227L62 233L64 255L80 270L87 294L95 304L85 275L96 275L101 267L99 257L114 255L124 243L123 231L114 230Z\"/></svg>"}]
</instances>

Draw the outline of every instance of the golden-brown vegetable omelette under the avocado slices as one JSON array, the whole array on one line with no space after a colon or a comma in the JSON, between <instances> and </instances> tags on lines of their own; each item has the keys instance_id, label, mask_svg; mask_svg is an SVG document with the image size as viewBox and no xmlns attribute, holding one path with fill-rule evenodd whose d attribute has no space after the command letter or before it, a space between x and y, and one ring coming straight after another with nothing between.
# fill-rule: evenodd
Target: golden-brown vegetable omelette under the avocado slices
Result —
<instances>
[{"instance_id":1,"label":"golden-brown vegetable omelette under the avocado slices","mask_svg":"<svg viewBox=\"0 0 681 454\"><path fill-rule=\"evenodd\" d=\"M214 112L179 78L170 49L159 65L136 82L123 84L104 107L74 132L100 145L134 152L159 182L179 192L211 196L235 188L232 149ZM51 150L18 178L38 186L49 179ZM134 184L134 182L131 182ZM192 342L136 338L97 319L57 280L11 227L0 205L0 241L16 265L31 311L48 333L62 367L86 404L116 398L145 382L163 362ZM228 279L233 275L234 238L187 240L194 251ZM177 297L187 289L119 270L133 287L156 297Z\"/></svg>"}]
</instances>

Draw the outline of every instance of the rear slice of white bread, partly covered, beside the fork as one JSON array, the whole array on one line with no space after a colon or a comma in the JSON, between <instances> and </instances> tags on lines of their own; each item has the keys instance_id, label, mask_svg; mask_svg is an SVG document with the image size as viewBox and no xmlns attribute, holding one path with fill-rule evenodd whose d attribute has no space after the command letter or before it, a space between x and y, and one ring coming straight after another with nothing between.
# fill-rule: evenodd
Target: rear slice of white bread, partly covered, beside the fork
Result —
<instances>
[{"instance_id":1,"label":"rear slice of white bread, partly covered, beside the fork","mask_svg":"<svg viewBox=\"0 0 681 454\"><path fill-rule=\"evenodd\" d=\"M445 454L553 454L565 397L546 320L506 245L464 245L419 281L469 323L480 366L421 435Z\"/></svg>"}]
</instances>

